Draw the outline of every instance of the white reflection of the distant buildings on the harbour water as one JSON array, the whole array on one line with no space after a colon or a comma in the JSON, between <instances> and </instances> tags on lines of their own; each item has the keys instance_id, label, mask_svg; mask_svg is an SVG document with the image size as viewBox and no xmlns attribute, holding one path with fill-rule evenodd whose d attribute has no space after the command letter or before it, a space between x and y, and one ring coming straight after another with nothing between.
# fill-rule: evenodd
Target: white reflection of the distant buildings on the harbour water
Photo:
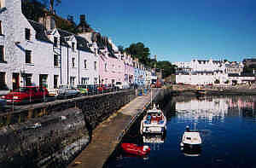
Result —
<instances>
[{"instance_id":1,"label":"white reflection of the distant buildings on the harbour water","mask_svg":"<svg viewBox=\"0 0 256 168\"><path fill-rule=\"evenodd\" d=\"M206 119L223 122L225 116L255 117L256 96L206 96L175 102L177 117L184 121Z\"/></svg>"}]
</instances>

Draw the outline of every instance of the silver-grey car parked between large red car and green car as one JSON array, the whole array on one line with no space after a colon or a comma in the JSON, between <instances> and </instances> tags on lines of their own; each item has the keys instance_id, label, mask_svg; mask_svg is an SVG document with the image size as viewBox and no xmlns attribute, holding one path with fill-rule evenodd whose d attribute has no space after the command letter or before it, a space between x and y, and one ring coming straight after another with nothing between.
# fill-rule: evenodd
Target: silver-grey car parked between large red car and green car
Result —
<instances>
[{"instance_id":1,"label":"silver-grey car parked between large red car and green car","mask_svg":"<svg viewBox=\"0 0 256 168\"><path fill-rule=\"evenodd\" d=\"M79 96L79 94L80 91L78 89L74 89L73 87L70 87L68 84L61 84L57 89L58 99L75 97Z\"/></svg>"}]
</instances>

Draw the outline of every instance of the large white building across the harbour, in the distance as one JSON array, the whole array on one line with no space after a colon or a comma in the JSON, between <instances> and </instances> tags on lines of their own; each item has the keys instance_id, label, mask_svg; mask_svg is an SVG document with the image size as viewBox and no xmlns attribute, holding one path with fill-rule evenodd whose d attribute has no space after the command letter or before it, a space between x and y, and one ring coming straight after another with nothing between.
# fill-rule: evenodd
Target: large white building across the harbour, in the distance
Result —
<instances>
[{"instance_id":1,"label":"large white building across the harbour, in the distance","mask_svg":"<svg viewBox=\"0 0 256 168\"><path fill-rule=\"evenodd\" d=\"M241 74L242 63L212 59L175 62L177 84L225 84L230 72Z\"/></svg>"}]
</instances>

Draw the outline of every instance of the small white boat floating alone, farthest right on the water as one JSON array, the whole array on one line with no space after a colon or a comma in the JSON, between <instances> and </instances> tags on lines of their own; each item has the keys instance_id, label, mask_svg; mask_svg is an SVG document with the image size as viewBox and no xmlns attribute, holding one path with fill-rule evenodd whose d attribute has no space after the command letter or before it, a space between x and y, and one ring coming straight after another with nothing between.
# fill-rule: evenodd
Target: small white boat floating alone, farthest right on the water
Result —
<instances>
[{"instance_id":1,"label":"small white boat floating alone, farthest right on the water","mask_svg":"<svg viewBox=\"0 0 256 168\"><path fill-rule=\"evenodd\" d=\"M199 130L189 130L189 126L186 127L186 131L183 133L183 139L180 143L181 147L200 148L201 136Z\"/></svg>"}]
</instances>

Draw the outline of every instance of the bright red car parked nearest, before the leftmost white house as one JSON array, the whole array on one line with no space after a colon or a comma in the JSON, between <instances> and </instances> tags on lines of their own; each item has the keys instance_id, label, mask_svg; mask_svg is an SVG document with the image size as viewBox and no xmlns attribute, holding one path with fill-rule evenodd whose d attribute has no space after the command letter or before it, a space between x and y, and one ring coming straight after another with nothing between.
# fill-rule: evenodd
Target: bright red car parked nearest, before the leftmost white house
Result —
<instances>
[{"instance_id":1,"label":"bright red car parked nearest, before the leftmost white house","mask_svg":"<svg viewBox=\"0 0 256 168\"><path fill-rule=\"evenodd\" d=\"M44 87L25 86L9 92L9 94L3 96L3 98L7 101L7 104L11 104L44 101L44 98L47 96L49 96L49 92Z\"/></svg>"}]
</instances>

